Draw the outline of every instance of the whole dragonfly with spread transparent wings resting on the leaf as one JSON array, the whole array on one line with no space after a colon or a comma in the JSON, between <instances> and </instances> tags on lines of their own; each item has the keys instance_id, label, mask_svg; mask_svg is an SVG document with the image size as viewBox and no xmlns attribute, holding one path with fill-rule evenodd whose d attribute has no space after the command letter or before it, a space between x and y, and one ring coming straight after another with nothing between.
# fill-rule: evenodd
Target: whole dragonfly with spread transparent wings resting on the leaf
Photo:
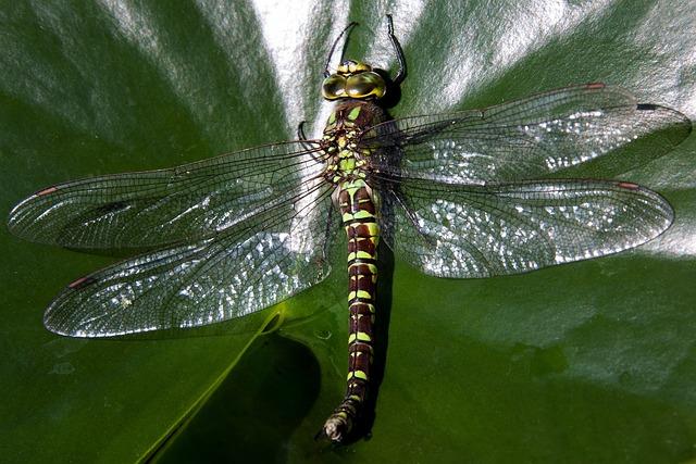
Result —
<instances>
[{"instance_id":1,"label":"whole dragonfly with spread transparent wings resting on the leaf","mask_svg":"<svg viewBox=\"0 0 696 464\"><path fill-rule=\"evenodd\" d=\"M384 102L407 66L390 15L394 77L343 58L330 72L353 25L326 61L322 96L335 108L321 138L300 124L297 140L58 184L18 203L9 228L21 238L134 254L67 285L45 326L115 337L239 318L325 279L343 229L347 387L320 431L338 443L370 394L381 241L426 275L481 278L627 250L671 225L660 195L600 178L684 140L680 112L587 84L394 120ZM641 150L646 139L657 142Z\"/></svg>"}]
</instances>

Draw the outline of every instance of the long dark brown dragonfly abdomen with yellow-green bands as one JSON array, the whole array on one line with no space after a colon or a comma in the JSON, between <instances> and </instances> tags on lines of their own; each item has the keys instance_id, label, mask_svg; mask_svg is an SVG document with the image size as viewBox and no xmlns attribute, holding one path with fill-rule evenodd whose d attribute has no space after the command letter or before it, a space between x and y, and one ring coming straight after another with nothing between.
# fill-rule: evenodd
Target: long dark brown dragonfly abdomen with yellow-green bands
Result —
<instances>
[{"instance_id":1,"label":"long dark brown dragonfly abdomen with yellow-green bands","mask_svg":"<svg viewBox=\"0 0 696 464\"><path fill-rule=\"evenodd\" d=\"M332 441L350 432L368 393L373 359L380 227L370 188L362 179L343 183L338 201L348 236L348 378L344 401L324 424Z\"/></svg>"}]
</instances>

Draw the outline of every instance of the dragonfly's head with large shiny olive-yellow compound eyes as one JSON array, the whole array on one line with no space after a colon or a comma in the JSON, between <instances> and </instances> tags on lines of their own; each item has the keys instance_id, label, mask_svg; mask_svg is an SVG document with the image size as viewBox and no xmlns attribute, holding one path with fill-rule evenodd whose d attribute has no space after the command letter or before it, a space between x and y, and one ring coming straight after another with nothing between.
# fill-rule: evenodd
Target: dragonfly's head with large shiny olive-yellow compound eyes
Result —
<instances>
[{"instance_id":1,"label":"dragonfly's head with large shiny olive-yellow compound eyes","mask_svg":"<svg viewBox=\"0 0 696 464\"><path fill-rule=\"evenodd\" d=\"M322 95L326 100L356 98L360 100L381 99L386 93L384 78L366 63L346 60L334 74L322 84Z\"/></svg>"}]
</instances>

